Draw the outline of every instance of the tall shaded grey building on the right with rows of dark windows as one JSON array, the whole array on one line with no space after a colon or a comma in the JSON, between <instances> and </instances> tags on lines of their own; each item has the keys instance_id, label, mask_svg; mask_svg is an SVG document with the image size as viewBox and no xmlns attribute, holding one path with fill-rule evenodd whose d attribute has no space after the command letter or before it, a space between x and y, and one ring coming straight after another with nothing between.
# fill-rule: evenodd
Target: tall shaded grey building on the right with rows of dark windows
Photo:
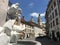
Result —
<instances>
[{"instance_id":1,"label":"tall shaded grey building on the right with rows of dark windows","mask_svg":"<svg viewBox=\"0 0 60 45\"><path fill-rule=\"evenodd\" d=\"M50 38L59 40L60 0L50 0L46 10L46 29Z\"/></svg>"}]
</instances>

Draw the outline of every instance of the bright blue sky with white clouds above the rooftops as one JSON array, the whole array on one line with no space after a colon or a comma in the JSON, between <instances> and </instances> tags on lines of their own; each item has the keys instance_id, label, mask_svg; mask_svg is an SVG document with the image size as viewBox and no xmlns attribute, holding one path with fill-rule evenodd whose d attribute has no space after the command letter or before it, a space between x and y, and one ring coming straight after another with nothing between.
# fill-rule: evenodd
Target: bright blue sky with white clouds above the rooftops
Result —
<instances>
[{"instance_id":1,"label":"bright blue sky with white clouds above the rooftops","mask_svg":"<svg viewBox=\"0 0 60 45\"><path fill-rule=\"evenodd\" d=\"M19 3L22 9L22 16L26 21L29 21L33 16L34 22L37 23L38 15L40 14L42 22L45 23L45 13L49 0L10 0L11 3Z\"/></svg>"}]
</instances>

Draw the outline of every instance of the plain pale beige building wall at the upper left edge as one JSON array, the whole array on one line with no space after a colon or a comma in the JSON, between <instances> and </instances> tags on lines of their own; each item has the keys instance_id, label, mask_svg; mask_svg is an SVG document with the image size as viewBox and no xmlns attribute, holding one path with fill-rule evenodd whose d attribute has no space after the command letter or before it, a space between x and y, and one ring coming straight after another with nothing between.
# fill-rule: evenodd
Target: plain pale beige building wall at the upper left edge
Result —
<instances>
[{"instance_id":1,"label":"plain pale beige building wall at the upper left edge","mask_svg":"<svg viewBox=\"0 0 60 45\"><path fill-rule=\"evenodd\" d=\"M0 0L0 26L3 26L6 21L8 1L9 0Z\"/></svg>"}]
</instances>

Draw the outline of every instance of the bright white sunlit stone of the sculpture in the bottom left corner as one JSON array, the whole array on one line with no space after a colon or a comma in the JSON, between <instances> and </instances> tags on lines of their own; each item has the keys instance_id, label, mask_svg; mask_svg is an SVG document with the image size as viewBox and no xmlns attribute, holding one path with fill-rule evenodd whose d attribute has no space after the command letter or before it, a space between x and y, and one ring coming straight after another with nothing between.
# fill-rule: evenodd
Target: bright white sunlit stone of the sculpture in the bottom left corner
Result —
<instances>
[{"instance_id":1,"label":"bright white sunlit stone of the sculpture in the bottom left corner","mask_svg":"<svg viewBox=\"0 0 60 45\"><path fill-rule=\"evenodd\" d=\"M0 27L0 45L8 45L10 42L10 37L4 31L4 27Z\"/></svg>"}]
</instances>

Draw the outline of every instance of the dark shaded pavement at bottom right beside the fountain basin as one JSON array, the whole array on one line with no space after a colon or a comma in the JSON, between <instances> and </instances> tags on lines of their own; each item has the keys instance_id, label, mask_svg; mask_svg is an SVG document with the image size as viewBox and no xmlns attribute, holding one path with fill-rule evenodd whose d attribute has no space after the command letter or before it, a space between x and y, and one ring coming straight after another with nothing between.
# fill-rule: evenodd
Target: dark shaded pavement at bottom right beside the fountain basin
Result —
<instances>
[{"instance_id":1,"label":"dark shaded pavement at bottom right beside the fountain basin","mask_svg":"<svg viewBox=\"0 0 60 45\"><path fill-rule=\"evenodd\" d=\"M36 38L36 41L41 42L42 45L60 45L60 42L48 38Z\"/></svg>"}]
</instances>

